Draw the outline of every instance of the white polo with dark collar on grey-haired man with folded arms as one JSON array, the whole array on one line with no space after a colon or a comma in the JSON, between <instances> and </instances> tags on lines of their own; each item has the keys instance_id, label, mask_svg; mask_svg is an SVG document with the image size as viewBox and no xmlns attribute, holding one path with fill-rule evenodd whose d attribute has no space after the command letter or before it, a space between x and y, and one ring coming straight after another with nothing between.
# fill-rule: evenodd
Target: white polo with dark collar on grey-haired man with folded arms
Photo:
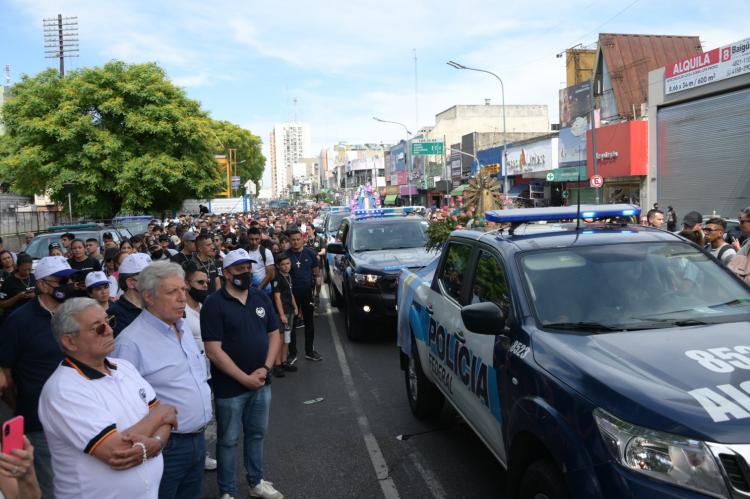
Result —
<instances>
[{"instance_id":1,"label":"white polo with dark collar on grey-haired man with folded arms","mask_svg":"<svg viewBox=\"0 0 750 499\"><path fill-rule=\"evenodd\" d=\"M130 362L105 362L109 376L66 357L42 389L39 419L52 454L55 497L156 499L161 454L123 471L93 456L99 444L143 419L157 403L154 389Z\"/></svg>"}]
</instances>

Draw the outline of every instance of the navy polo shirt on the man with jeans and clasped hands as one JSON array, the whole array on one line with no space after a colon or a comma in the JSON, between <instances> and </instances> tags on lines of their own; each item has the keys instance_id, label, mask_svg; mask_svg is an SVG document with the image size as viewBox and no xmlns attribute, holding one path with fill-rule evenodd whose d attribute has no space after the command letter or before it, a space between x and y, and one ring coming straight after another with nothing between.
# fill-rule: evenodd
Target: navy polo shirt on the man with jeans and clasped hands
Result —
<instances>
[{"instance_id":1,"label":"navy polo shirt on the man with jeans and clasped hands","mask_svg":"<svg viewBox=\"0 0 750 499\"><path fill-rule=\"evenodd\" d=\"M257 289L248 290L247 301L243 304L222 288L209 295L201 307L203 341L220 341L221 349L247 374L265 364L268 333L277 329L279 321L271 300ZM211 379L216 398L236 397L248 392L248 388L214 364L211 364ZM271 376L268 376L266 384L270 383Z\"/></svg>"}]
</instances>

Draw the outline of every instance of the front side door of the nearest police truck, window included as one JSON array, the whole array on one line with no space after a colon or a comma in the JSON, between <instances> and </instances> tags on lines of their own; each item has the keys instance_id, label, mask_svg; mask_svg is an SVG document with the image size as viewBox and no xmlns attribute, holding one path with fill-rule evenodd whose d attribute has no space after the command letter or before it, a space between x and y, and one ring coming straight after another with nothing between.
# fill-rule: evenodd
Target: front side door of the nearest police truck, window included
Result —
<instances>
[{"instance_id":1,"label":"front side door of the nearest police truck, window included","mask_svg":"<svg viewBox=\"0 0 750 499\"><path fill-rule=\"evenodd\" d=\"M466 277L466 301L493 302L500 307L505 317L509 318L512 308L510 289L500 257L491 252L489 247L480 246L471 270ZM465 340L463 347L468 352L459 351L459 362L467 364L468 370L464 368L461 372L467 380L465 385L471 395L467 398L465 411L471 413L472 422L478 433L505 462L500 395L505 385L501 379L505 376L510 341L507 336L472 333L463 327L463 323L461 326ZM498 324L497 334L507 335L507 329ZM508 344L503 344L503 340ZM496 351L498 359L495 359Z\"/></svg>"}]
</instances>

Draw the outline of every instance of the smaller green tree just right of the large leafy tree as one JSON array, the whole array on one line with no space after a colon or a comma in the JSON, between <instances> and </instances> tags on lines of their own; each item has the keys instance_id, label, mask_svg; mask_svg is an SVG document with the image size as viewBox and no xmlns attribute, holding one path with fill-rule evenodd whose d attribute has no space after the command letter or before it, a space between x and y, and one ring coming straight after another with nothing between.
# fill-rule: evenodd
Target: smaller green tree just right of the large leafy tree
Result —
<instances>
[{"instance_id":1,"label":"smaller green tree just right of the large leafy tree","mask_svg":"<svg viewBox=\"0 0 750 499\"><path fill-rule=\"evenodd\" d=\"M228 149L237 149L237 175L240 183L244 185L252 180L260 188L260 179L266 165L260 137L229 121L211 120L210 126L214 139L213 151L216 154L227 154Z\"/></svg>"}]
</instances>

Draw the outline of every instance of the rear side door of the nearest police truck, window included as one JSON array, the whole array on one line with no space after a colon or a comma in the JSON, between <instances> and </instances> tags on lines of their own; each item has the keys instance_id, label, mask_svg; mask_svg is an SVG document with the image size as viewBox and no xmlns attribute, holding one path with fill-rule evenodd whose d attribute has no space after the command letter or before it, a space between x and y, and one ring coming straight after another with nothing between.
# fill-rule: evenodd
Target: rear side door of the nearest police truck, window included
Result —
<instances>
[{"instance_id":1,"label":"rear side door of the nearest police truck, window included","mask_svg":"<svg viewBox=\"0 0 750 499\"><path fill-rule=\"evenodd\" d=\"M431 371L434 383L467 421L474 419L467 411L474 406L471 388L472 382L476 385L476 379L470 373L472 356L466 346L461 307L466 304L466 276L471 270L474 253L470 242L456 239L445 249L438 278L427 300L427 310L431 310L427 358L420 359L425 370Z\"/></svg>"}]
</instances>

